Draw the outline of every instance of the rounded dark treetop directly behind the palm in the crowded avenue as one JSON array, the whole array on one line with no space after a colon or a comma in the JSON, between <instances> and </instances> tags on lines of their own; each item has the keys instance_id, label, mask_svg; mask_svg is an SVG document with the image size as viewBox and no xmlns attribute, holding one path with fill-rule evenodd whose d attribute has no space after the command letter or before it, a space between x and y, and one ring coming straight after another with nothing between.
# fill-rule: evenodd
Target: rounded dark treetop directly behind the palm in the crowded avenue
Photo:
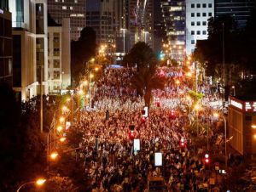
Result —
<instances>
[{"instance_id":1,"label":"rounded dark treetop directly behind the palm in the crowded avenue","mask_svg":"<svg viewBox=\"0 0 256 192\"><path fill-rule=\"evenodd\" d=\"M152 48L145 42L137 42L129 54L126 54L123 60L123 65L134 67L137 65L137 71L141 68L156 65L156 56Z\"/></svg>"}]
</instances>

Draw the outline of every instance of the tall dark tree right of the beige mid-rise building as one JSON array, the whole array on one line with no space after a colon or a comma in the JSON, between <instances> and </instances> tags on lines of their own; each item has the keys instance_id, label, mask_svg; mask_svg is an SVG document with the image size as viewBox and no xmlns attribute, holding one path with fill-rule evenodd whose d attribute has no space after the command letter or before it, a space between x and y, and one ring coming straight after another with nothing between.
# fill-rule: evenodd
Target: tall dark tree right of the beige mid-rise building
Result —
<instances>
[{"instance_id":1,"label":"tall dark tree right of the beige mid-rise building","mask_svg":"<svg viewBox=\"0 0 256 192\"><path fill-rule=\"evenodd\" d=\"M81 31L79 41L71 42L72 79L79 82L86 62L96 55L96 32L91 27Z\"/></svg>"}]
</instances>

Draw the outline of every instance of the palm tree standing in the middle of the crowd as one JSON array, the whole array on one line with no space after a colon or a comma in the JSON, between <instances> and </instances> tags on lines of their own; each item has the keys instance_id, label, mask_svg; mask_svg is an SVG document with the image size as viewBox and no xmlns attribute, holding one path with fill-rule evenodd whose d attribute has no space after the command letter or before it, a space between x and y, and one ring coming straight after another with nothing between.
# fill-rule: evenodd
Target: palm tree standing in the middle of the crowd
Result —
<instances>
[{"instance_id":1,"label":"palm tree standing in the middle of the crowd","mask_svg":"<svg viewBox=\"0 0 256 192\"><path fill-rule=\"evenodd\" d=\"M157 76L155 71L154 66L141 68L131 80L132 87L137 88L137 93L144 97L147 106L150 106L152 91L165 88L165 78Z\"/></svg>"}]
</instances>

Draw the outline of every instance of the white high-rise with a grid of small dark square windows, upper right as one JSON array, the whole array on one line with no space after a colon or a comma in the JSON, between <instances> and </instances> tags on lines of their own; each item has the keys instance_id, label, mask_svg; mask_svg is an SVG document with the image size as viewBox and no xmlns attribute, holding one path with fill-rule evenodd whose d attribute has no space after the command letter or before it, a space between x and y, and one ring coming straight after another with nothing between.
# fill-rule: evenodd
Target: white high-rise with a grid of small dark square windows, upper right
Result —
<instances>
[{"instance_id":1,"label":"white high-rise with a grid of small dark square windows, upper right","mask_svg":"<svg viewBox=\"0 0 256 192\"><path fill-rule=\"evenodd\" d=\"M207 39L208 19L214 17L213 0L186 1L186 52L192 54L197 40Z\"/></svg>"}]
</instances>

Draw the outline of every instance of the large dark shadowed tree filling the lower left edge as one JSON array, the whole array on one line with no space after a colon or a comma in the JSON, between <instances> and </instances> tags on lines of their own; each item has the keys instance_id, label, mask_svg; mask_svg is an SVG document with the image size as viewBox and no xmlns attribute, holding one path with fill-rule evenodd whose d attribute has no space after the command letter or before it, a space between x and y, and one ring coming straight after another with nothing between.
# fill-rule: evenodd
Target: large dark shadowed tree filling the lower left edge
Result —
<instances>
[{"instance_id":1,"label":"large dark shadowed tree filling the lower left edge","mask_svg":"<svg viewBox=\"0 0 256 192\"><path fill-rule=\"evenodd\" d=\"M6 84L0 85L0 102L0 191L15 191L18 184L44 174L44 135L39 119L21 114Z\"/></svg>"}]
</instances>

